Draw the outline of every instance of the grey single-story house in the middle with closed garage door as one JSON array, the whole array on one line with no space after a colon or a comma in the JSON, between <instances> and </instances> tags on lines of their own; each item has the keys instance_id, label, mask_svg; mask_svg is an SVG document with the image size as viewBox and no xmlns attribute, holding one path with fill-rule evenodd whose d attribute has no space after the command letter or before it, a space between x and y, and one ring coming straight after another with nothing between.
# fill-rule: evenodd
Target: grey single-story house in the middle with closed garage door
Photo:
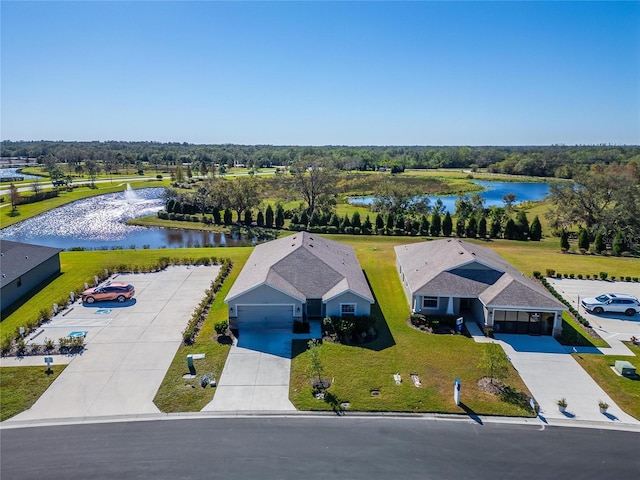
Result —
<instances>
[{"instance_id":1,"label":"grey single-story house in the middle with closed garage door","mask_svg":"<svg viewBox=\"0 0 640 480\"><path fill-rule=\"evenodd\" d=\"M352 247L298 232L257 245L225 302L231 328L242 331L369 315L374 299Z\"/></svg>"}]
</instances>

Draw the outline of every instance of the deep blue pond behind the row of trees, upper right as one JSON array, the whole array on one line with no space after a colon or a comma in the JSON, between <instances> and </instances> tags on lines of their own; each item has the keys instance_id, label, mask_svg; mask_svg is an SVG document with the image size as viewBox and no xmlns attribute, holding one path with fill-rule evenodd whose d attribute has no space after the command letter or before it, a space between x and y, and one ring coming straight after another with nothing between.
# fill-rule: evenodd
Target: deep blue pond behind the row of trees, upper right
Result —
<instances>
[{"instance_id":1,"label":"deep blue pond behind the row of trees, upper right","mask_svg":"<svg viewBox=\"0 0 640 480\"><path fill-rule=\"evenodd\" d=\"M546 182L489 182L483 180L473 180L473 183L480 185L484 188L484 191L479 192L485 199L485 207L504 206L502 197L508 193L513 193L516 196L515 203L521 202L536 202L543 200L549 195L549 184ZM458 195L428 195L431 206L436 200L442 200L445 210L449 213L455 212L455 203L458 199ZM353 205L371 205L374 201L373 196L368 197L352 197L349 199L349 203Z\"/></svg>"}]
</instances>

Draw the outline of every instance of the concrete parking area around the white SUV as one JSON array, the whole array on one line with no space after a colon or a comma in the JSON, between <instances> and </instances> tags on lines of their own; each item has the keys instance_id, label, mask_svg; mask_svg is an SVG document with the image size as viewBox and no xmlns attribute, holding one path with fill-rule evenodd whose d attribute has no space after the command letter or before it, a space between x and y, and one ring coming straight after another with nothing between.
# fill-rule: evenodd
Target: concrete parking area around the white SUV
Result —
<instances>
[{"instance_id":1,"label":"concrete parking area around the white SUV","mask_svg":"<svg viewBox=\"0 0 640 480\"><path fill-rule=\"evenodd\" d=\"M627 316L624 313L594 315L580 306L580 299L596 297L602 293L625 293L640 298L640 284L568 278L547 278L547 280L611 345L611 348L598 349L601 353L605 355L632 355L631 351L621 342L628 341L632 336L640 338L640 314L633 316Z\"/></svg>"}]
</instances>

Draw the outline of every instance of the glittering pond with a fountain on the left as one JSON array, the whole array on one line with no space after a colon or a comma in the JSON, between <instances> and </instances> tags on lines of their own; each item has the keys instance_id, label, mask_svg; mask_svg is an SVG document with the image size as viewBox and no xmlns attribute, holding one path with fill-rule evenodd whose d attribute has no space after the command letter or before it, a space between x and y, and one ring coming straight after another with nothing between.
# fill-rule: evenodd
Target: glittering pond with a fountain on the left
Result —
<instances>
[{"instance_id":1,"label":"glittering pond with a fountain on the left","mask_svg":"<svg viewBox=\"0 0 640 480\"><path fill-rule=\"evenodd\" d=\"M63 249L238 246L257 239L240 234L127 225L164 206L163 188L145 188L78 200L0 230L0 238Z\"/></svg>"}]
</instances>

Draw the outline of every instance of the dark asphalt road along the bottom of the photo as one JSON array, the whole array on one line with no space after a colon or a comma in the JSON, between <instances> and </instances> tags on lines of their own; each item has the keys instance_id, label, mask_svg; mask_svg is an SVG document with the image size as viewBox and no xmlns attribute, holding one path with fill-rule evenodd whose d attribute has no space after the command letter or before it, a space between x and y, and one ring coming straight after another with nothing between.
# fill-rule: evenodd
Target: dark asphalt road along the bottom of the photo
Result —
<instances>
[{"instance_id":1,"label":"dark asphalt road along the bottom of the photo","mask_svg":"<svg viewBox=\"0 0 640 480\"><path fill-rule=\"evenodd\" d=\"M421 418L194 418L3 429L0 477L616 479L637 432Z\"/></svg>"}]
</instances>

